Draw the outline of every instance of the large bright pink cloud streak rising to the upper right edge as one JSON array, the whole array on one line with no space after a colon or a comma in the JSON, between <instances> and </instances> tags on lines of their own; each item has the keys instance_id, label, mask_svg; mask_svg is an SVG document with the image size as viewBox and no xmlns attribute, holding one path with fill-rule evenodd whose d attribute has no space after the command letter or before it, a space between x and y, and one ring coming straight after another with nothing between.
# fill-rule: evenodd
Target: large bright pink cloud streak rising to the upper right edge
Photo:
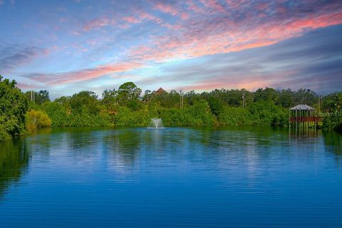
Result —
<instances>
[{"instance_id":1,"label":"large bright pink cloud streak rising to the upper right edge","mask_svg":"<svg viewBox=\"0 0 342 228\"><path fill-rule=\"evenodd\" d=\"M304 18L274 20L264 24L255 24L252 17L247 20L242 21L241 25L228 20L210 21L210 24L190 21L179 26L176 33L170 31L165 36L156 36L150 43L132 48L129 56L140 61L163 62L268 46L301 36L308 30L342 24L342 13L318 12Z\"/></svg>"}]
</instances>

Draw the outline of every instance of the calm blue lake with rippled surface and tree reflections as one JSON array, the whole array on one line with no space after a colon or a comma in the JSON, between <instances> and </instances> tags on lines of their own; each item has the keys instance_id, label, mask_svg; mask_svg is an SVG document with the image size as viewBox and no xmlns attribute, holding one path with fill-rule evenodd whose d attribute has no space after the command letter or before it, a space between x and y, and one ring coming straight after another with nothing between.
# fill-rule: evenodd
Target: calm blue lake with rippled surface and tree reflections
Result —
<instances>
[{"instance_id":1,"label":"calm blue lake with rippled surface and tree reflections","mask_svg":"<svg viewBox=\"0 0 342 228\"><path fill-rule=\"evenodd\" d=\"M41 130L0 142L0 227L342 227L342 135Z\"/></svg>"}]
</instances>

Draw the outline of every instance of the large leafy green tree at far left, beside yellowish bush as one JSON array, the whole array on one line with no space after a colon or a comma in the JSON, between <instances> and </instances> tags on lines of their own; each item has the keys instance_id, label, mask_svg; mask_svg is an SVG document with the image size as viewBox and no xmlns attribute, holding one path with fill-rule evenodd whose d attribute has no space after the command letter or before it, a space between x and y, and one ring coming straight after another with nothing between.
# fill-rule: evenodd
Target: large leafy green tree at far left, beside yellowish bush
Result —
<instances>
[{"instance_id":1,"label":"large leafy green tree at far left, beside yellowish bush","mask_svg":"<svg viewBox=\"0 0 342 228\"><path fill-rule=\"evenodd\" d=\"M0 140L8 140L23 133L27 108L27 99L16 88L16 81L3 81L0 76Z\"/></svg>"}]
</instances>

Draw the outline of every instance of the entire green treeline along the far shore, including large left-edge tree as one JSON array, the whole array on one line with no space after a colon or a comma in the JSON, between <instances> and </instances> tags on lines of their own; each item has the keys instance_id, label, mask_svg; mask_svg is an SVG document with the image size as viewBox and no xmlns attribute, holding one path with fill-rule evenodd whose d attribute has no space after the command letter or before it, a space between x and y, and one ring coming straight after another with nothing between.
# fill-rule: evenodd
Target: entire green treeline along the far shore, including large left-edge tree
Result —
<instances>
[{"instance_id":1,"label":"entire green treeline along the far shore, including large left-edge tree","mask_svg":"<svg viewBox=\"0 0 342 228\"><path fill-rule=\"evenodd\" d=\"M50 100L46 90L21 93L15 81L0 78L0 139L24 130L76 126L147 126L162 118L166 126L274 125L288 123L289 108L307 104L325 115L323 128L342 130L342 92L320 97L312 90L259 88L255 92L212 90L180 93L142 90L128 82L102 97L91 91ZM33 100L34 98L34 100Z\"/></svg>"}]
</instances>

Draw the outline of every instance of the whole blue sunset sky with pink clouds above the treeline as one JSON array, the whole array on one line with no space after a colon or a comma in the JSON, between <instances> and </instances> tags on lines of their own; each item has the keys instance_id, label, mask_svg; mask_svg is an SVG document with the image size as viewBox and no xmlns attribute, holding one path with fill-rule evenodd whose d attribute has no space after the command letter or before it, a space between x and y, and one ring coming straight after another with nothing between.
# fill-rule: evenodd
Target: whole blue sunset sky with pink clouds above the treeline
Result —
<instances>
[{"instance_id":1,"label":"whole blue sunset sky with pink clouds above the treeline","mask_svg":"<svg viewBox=\"0 0 342 228\"><path fill-rule=\"evenodd\" d=\"M142 90L342 90L342 1L0 0L0 74L52 98Z\"/></svg>"}]
</instances>

